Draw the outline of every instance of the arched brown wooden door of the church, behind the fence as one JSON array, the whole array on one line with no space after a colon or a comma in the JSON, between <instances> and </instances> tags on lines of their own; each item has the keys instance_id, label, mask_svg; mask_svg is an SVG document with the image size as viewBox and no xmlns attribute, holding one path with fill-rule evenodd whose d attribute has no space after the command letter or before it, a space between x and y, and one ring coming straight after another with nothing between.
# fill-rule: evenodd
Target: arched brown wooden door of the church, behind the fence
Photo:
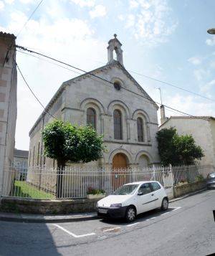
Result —
<instances>
[{"instance_id":1,"label":"arched brown wooden door of the church, behind the fence","mask_svg":"<svg viewBox=\"0 0 215 256\"><path fill-rule=\"evenodd\" d=\"M113 169L112 169L112 187L118 189L125 183L128 183L128 160L127 156L123 153L117 153L113 157Z\"/></svg>"}]
</instances>

